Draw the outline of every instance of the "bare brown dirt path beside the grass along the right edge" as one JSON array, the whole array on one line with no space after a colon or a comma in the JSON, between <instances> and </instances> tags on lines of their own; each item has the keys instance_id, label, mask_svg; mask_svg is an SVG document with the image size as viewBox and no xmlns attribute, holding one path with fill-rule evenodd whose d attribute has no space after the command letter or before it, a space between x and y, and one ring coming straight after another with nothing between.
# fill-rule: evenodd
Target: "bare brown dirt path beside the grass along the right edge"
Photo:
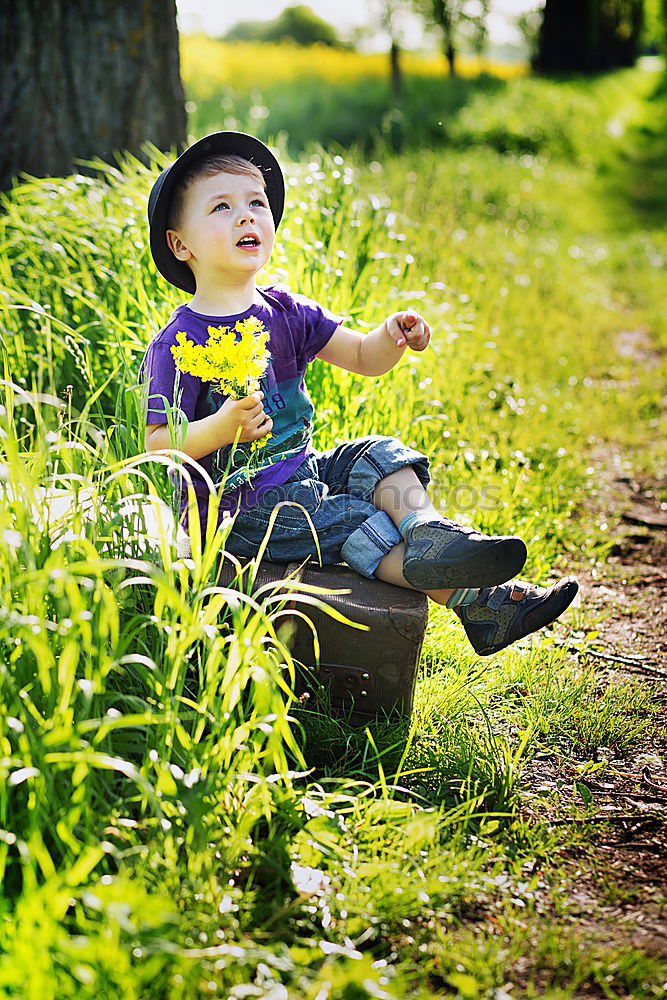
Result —
<instances>
[{"instance_id":1,"label":"bare brown dirt path beside the grass along the right edge","mask_svg":"<svg viewBox=\"0 0 667 1000\"><path fill-rule=\"evenodd\" d=\"M600 616L595 650L586 656L602 684L634 680L648 685L656 728L622 755L601 748L605 766L585 779L594 824L583 826L581 798L569 792L580 779L576 761L556 755L531 762L524 774L527 816L544 820L545 800L531 792L558 788L549 819L587 831L585 843L551 859L564 869L554 918L576 927L586 945L625 946L667 958L667 502L665 484L639 480L631 461L609 446L591 463L598 495L584 516L603 514L615 539L603 567L576 568L582 602ZM576 648L571 654L582 659ZM563 780L565 779L565 780ZM533 807L534 803L534 807ZM591 994L590 983L581 996ZM604 994L600 994L604 995Z\"/></svg>"}]
</instances>

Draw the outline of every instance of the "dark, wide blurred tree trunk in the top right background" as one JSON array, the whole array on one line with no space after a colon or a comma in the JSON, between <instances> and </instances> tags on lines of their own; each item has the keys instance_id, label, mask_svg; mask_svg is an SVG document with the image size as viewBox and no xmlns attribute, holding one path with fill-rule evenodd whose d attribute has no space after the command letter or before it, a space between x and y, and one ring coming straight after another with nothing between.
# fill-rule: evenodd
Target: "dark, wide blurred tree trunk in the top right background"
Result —
<instances>
[{"instance_id":1,"label":"dark, wide blurred tree trunk in the top right background","mask_svg":"<svg viewBox=\"0 0 667 1000\"><path fill-rule=\"evenodd\" d=\"M594 73L631 66L643 13L643 0L546 0L535 68Z\"/></svg>"}]
</instances>

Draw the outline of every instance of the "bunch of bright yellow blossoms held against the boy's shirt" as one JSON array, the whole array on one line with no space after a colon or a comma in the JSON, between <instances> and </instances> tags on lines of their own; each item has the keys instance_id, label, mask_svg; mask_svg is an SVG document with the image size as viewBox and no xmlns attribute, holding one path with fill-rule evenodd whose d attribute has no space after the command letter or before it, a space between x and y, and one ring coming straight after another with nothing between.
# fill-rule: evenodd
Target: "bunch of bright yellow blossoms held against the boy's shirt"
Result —
<instances>
[{"instance_id":1,"label":"bunch of bright yellow blossoms held against the boy's shirt","mask_svg":"<svg viewBox=\"0 0 667 1000\"><path fill-rule=\"evenodd\" d=\"M233 329L209 326L208 333L203 346L193 344L185 333L176 334L178 347L172 347L171 353L179 371L210 382L215 392L232 399L256 392L269 363L269 334L261 320L249 316Z\"/></svg>"}]
</instances>

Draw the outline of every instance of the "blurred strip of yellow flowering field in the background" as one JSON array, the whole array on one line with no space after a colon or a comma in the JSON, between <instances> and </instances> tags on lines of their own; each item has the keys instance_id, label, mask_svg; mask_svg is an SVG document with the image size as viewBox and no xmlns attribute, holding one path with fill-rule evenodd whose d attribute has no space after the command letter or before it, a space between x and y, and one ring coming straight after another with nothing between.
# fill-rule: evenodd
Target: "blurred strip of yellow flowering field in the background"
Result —
<instances>
[{"instance_id":1,"label":"blurred strip of yellow flowering field in the background","mask_svg":"<svg viewBox=\"0 0 667 1000\"><path fill-rule=\"evenodd\" d=\"M445 72L439 54L422 56L403 54L406 74L437 77ZM520 76L527 67L520 64L494 63L477 58L459 60L461 76L492 73L503 79ZM352 83L368 77L387 76L387 56L332 49L326 45L304 48L288 43L221 42L207 35L181 36L181 70L187 89L196 89L202 99L211 97L220 87L236 90L268 88L300 78L317 77L330 84Z\"/></svg>"}]
</instances>

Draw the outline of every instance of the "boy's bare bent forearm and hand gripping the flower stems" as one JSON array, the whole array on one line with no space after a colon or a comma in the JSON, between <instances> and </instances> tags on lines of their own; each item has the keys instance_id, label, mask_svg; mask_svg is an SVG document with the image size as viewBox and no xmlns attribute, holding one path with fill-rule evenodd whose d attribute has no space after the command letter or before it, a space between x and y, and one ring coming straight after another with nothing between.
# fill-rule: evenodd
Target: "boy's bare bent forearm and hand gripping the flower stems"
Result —
<instances>
[{"instance_id":1,"label":"boy's bare bent forearm and hand gripping the flower stems","mask_svg":"<svg viewBox=\"0 0 667 1000\"><path fill-rule=\"evenodd\" d=\"M256 441L264 437L273 427L273 421L264 413L263 395L253 392L243 399L227 399L215 413L201 420L191 420L182 451L197 462L236 440ZM148 424L144 447L146 451L171 448L168 425Z\"/></svg>"}]
</instances>

